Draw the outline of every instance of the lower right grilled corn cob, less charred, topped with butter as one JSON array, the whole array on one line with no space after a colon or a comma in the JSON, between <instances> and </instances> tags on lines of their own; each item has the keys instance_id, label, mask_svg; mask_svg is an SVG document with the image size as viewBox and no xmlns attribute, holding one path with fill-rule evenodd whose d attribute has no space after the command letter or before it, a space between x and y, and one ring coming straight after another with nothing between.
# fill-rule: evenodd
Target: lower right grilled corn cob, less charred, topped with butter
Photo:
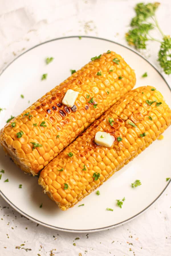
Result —
<instances>
[{"instance_id":1,"label":"lower right grilled corn cob, less charred, topped with butter","mask_svg":"<svg viewBox=\"0 0 171 256\"><path fill-rule=\"evenodd\" d=\"M139 87L53 159L41 171L39 184L61 210L67 210L139 155L170 123L171 110L161 93ZM113 146L96 145L97 131L113 135Z\"/></svg>"}]
</instances>

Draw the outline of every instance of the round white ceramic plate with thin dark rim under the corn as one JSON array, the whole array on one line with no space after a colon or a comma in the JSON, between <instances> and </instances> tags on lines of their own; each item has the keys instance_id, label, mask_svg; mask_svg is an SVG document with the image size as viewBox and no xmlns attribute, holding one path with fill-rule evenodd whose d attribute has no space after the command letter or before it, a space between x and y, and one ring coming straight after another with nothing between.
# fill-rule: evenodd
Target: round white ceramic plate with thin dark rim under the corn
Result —
<instances>
[{"instance_id":1,"label":"round white ceramic plate with thin dark rim under the corn","mask_svg":"<svg viewBox=\"0 0 171 256\"><path fill-rule=\"evenodd\" d=\"M20 114L36 99L55 87L70 75L70 69L80 69L91 57L116 51L135 69L136 87L153 85L171 102L170 88L158 71L142 56L115 42L94 37L65 37L54 39L33 47L13 61L0 76L0 127L11 115ZM54 57L49 65L46 57ZM144 72L148 77L141 78ZM47 80L41 81L43 73ZM24 95L24 99L20 95ZM30 103L28 101L30 100ZM17 211L46 227L70 231L91 232L109 229L125 223L145 211L166 189L171 177L170 161L171 130L164 132L162 141L155 141L141 155L115 173L95 192L66 212L58 209L38 185L38 177L24 174L0 147L0 169L4 169L0 180L1 196ZM4 182L5 179L9 182ZM142 185L131 188L131 183L140 179ZM22 189L19 188L22 184ZM116 199L123 199L122 209ZM40 204L43 207L40 208ZM107 211L106 208L113 211Z\"/></svg>"}]
</instances>

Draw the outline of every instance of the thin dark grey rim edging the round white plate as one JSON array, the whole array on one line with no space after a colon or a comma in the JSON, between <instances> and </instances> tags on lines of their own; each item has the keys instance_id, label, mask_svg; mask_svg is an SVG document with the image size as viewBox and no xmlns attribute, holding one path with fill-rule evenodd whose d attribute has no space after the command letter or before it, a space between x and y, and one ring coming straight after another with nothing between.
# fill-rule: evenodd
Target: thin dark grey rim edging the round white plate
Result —
<instances>
[{"instance_id":1,"label":"thin dark grey rim edging the round white plate","mask_svg":"<svg viewBox=\"0 0 171 256\"><path fill-rule=\"evenodd\" d=\"M29 48L27 51L21 53L19 56L17 56L15 59L13 59L13 61L11 61L4 69L2 69L1 73L0 73L0 76L3 74L3 72L16 60L18 59L19 57L21 57L23 54L27 53L28 51L40 46L40 45L43 45L45 43L49 43L49 42L52 42L52 41L57 41L57 40L60 40L60 39L68 39L68 38L76 38L76 37L85 37L85 38L93 38L93 39L100 39L100 40L104 40L104 41L108 41L108 42L111 42L111 43L115 43L117 45L120 45L122 47L125 47L126 49L130 50L130 51L133 51L135 54L139 55L141 58L143 58L147 63L149 63L156 71L157 73L162 77L162 79L164 80L164 82L166 83L167 87L169 88L170 92L171 92L171 88L170 86L168 85L166 79L163 77L163 75L158 71L158 69L155 67L154 64L150 63L150 61L148 61L144 56L142 56L140 53L138 53L137 51L135 51L134 49L131 49L129 48L128 46L126 45L123 45L121 43L117 43L115 41L112 41L112 40L109 40L109 39L105 39L105 38L101 38L101 37L93 37L93 36L80 36L80 35L75 35L75 36L68 36L68 37L58 37L58 38L54 38L54 39L51 39L51 40L48 40L48 41L44 41L42 43L39 43L37 45L34 45L33 47ZM119 223L116 223L116 224L113 224L113 225L109 225L107 227L101 227L101 228L96 228L96 229L66 229L66 228L61 228L61 227L56 227L54 225L50 225L50 224L46 224L42 221L39 221L33 217L31 217L30 215L28 215L27 213L23 212L21 209L19 209L16 205L14 205L4 194L3 192L0 190L0 195L1 197L7 202L9 203L9 205L11 205L11 207L13 207L13 209L15 209L17 212L21 213L22 215L24 215L25 217L27 217L28 219L44 226L44 227L48 227L48 228L51 228L51 229L56 229L56 230L59 230L59 231L65 231L65 232L73 232L73 233L86 233L86 232L97 232L97 231L103 231L103 230L106 230L106 229L111 229L111 228L114 228L114 227L118 227L124 223L127 223L133 219L135 219L137 216L141 215L143 212L145 212L148 208L150 208L158 199L159 197L163 194L163 192L166 190L166 188L168 187L168 185L170 184L171 182L171 179L169 180L169 182L167 183L166 187L162 190L162 192L156 197L156 199L154 199L154 201L152 201L152 203L150 203L146 208L144 208L142 211L140 211L139 213L137 213L136 215L130 217L129 219L126 219L124 221L121 221Z\"/></svg>"}]
</instances>

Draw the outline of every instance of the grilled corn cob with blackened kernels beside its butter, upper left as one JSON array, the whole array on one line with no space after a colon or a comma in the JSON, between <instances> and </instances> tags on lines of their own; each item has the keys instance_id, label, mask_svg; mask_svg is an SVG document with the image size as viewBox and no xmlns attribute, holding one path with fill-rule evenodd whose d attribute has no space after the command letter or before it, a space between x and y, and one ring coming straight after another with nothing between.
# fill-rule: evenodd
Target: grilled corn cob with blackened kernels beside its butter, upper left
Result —
<instances>
[{"instance_id":1,"label":"grilled corn cob with blackened kernels beside its butter, upper left","mask_svg":"<svg viewBox=\"0 0 171 256\"><path fill-rule=\"evenodd\" d=\"M5 151L25 172L36 175L135 85L120 55L108 51L93 59L0 131ZM62 104L68 89L79 92L72 108Z\"/></svg>"}]
</instances>

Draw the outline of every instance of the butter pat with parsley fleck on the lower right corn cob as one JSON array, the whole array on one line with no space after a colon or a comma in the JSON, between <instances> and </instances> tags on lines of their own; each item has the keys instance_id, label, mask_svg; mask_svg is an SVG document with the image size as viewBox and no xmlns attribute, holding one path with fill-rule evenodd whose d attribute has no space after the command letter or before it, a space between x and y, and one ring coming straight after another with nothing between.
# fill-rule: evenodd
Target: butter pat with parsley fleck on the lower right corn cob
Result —
<instances>
[{"instance_id":1,"label":"butter pat with parsley fleck on the lower right corn cob","mask_svg":"<svg viewBox=\"0 0 171 256\"><path fill-rule=\"evenodd\" d=\"M95 134L95 143L104 146L104 147L111 147L114 142L114 137L106 132L98 131Z\"/></svg>"}]
</instances>

